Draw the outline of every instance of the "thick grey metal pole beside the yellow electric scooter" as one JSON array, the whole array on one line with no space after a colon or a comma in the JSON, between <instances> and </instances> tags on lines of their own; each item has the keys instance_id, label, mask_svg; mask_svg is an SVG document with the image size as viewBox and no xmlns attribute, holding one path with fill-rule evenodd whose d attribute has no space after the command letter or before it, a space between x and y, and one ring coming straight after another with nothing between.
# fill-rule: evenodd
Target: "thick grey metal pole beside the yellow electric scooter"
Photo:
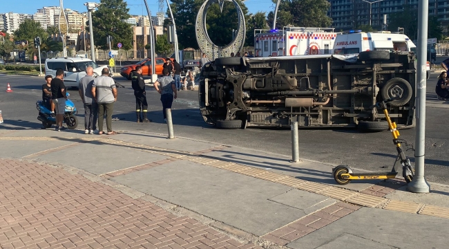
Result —
<instances>
[{"instance_id":1,"label":"thick grey metal pole beside the yellow electric scooter","mask_svg":"<svg viewBox=\"0 0 449 249\"><path fill-rule=\"evenodd\" d=\"M418 65L417 65L417 135L414 151L414 176L408 183L407 190L414 193L428 193L430 186L424 178L424 157L426 141L426 54L427 54L427 24L429 0L418 3Z\"/></svg>"}]
</instances>

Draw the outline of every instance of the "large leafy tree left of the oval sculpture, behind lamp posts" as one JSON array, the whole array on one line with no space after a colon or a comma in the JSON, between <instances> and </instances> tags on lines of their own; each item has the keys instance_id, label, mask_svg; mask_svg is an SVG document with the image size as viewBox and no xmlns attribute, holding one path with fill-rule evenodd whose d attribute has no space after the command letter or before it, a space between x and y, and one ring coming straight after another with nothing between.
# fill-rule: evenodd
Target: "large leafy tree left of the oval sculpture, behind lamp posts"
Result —
<instances>
[{"instance_id":1,"label":"large leafy tree left of the oval sculpture, behind lamp posts","mask_svg":"<svg viewBox=\"0 0 449 249\"><path fill-rule=\"evenodd\" d=\"M102 0L103 4L92 14L93 37L95 44L102 49L108 49L106 37L111 35L115 43L120 42L123 49L133 48L133 29L131 24L122 20L131 17L128 5L123 0ZM88 22L86 23L88 26Z\"/></svg>"}]
</instances>

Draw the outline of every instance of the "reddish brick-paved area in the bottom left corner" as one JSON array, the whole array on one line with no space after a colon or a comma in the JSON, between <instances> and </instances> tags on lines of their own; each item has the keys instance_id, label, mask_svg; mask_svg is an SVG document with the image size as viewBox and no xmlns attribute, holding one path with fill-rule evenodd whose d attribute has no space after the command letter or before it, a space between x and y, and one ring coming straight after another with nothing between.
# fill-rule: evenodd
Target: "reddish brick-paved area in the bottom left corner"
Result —
<instances>
[{"instance_id":1,"label":"reddish brick-paved area in the bottom left corner","mask_svg":"<svg viewBox=\"0 0 449 249\"><path fill-rule=\"evenodd\" d=\"M0 158L0 248L260 248L64 169Z\"/></svg>"}]
</instances>

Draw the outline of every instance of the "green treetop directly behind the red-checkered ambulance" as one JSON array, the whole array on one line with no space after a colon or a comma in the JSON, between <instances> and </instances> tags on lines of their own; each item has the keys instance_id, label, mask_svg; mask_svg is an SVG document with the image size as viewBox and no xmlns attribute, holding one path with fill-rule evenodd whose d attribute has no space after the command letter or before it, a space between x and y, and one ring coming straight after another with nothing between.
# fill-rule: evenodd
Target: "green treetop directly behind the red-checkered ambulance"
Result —
<instances>
[{"instance_id":1,"label":"green treetop directly behind the red-checkered ambulance","mask_svg":"<svg viewBox=\"0 0 449 249\"><path fill-rule=\"evenodd\" d=\"M276 0L273 0L276 3ZM300 27L329 27L332 19L327 17L330 3L327 0L281 1L278 9L276 28L287 25ZM273 26L274 12L268 14L269 26Z\"/></svg>"}]
</instances>

